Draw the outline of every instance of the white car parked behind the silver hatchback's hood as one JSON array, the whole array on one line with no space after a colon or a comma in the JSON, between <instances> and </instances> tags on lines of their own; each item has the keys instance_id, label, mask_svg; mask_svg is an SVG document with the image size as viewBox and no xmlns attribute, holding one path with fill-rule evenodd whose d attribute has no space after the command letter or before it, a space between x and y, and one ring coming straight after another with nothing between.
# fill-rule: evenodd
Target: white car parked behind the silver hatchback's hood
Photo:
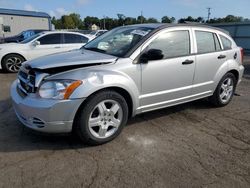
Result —
<instances>
[{"instance_id":1,"label":"white car parked behind the silver hatchback's hood","mask_svg":"<svg viewBox=\"0 0 250 188\"><path fill-rule=\"evenodd\" d=\"M0 44L0 68L18 72L24 61L59 52L79 49L90 37L76 32L46 31L20 43Z\"/></svg>"}]
</instances>

